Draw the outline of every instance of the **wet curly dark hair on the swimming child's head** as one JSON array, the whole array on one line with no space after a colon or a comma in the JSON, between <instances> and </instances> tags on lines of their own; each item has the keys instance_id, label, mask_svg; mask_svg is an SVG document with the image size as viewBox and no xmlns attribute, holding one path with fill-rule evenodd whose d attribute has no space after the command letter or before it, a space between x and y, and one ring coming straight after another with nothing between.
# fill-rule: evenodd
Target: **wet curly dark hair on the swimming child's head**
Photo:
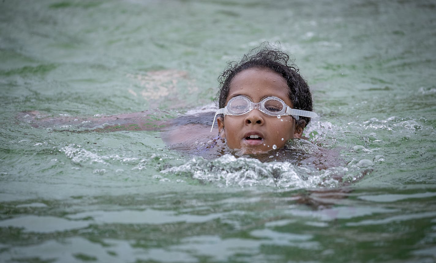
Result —
<instances>
[{"instance_id":1,"label":"wet curly dark hair on the swimming child's head","mask_svg":"<svg viewBox=\"0 0 436 263\"><path fill-rule=\"evenodd\" d=\"M220 108L225 107L230 84L235 76L239 72L251 68L269 69L282 75L288 84L289 98L293 108L312 111L312 94L306 80L300 76L298 68L290 61L285 52L270 45L256 47L245 54L239 62L228 62L228 67L218 77L220 84L217 95ZM309 122L309 117L300 117L297 126L304 128Z\"/></svg>"}]
</instances>

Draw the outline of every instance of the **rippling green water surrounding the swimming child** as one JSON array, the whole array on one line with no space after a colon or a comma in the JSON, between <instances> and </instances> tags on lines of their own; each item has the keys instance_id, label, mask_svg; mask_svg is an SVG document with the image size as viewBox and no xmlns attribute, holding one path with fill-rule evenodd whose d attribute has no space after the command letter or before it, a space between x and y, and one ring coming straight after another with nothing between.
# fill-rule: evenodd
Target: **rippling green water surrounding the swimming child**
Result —
<instances>
[{"instance_id":1,"label":"rippling green water surrounding the swimming child","mask_svg":"<svg viewBox=\"0 0 436 263\"><path fill-rule=\"evenodd\" d=\"M436 262L435 11L424 0L2 1L0 261ZM210 106L226 61L263 41L295 58L319 114L305 133L340 166L205 160L158 131L17 118L181 116Z\"/></svg>"}]
</instances>

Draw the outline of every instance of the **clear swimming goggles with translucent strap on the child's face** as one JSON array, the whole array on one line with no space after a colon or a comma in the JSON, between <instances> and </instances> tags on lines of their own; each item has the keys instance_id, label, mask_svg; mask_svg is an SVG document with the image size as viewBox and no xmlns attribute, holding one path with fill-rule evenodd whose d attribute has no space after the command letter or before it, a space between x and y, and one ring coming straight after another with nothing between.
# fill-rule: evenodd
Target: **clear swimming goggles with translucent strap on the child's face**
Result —
<instances>
[{"instance_id":1,"label":"clear swimming goggles with translucent strap on the child's face","mask_svg":"<svg viewBox=\"0 0 436 263\"><path fill-rule=\"evenodd\" d=\"M211 132L214 128L215 118L218 114L238 116L249 113L254 109L260 110L269 116L278 117L281 115L290 115L296 120L300 119L299 116L310 118L318 116L318 114L314 113L313 111L293 109L286 105L286 103L278 97L269 96L263 98L259 103L254 103L249 97L239 95L229 100L227 106L217 110L215 113L214 122L212 123Z\"/></svg>"}]
</instances>

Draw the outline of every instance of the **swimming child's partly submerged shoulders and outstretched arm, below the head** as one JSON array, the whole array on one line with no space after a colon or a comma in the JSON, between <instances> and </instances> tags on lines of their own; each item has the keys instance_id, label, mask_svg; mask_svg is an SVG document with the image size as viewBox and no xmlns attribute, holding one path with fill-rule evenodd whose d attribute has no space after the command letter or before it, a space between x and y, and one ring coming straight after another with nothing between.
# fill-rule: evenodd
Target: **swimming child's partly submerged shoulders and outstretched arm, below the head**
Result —
<instances>
[{"instance_id":1,"label":"swimming child's partly submerged shoulders and outstretched arm, below the head","mask_svg":"<svg viewBox=\"0 0 436 263\"><path fill-rule=\"evenodd\" d=\"M247 156L269 161L290 161L298 165L315 166L326 169L343 165L337 150L325 149L311 143L308 138L293 138L284 142L283 147L258 154L248 154L239 149L228 147L225 138L220 137L218 128L210 131L210 120L214 112L201 110L196 113L175 118L160 119L170 116L167 112L150 110L137 113L125 113L103 117L53 117L36 111L23 112L17 116L20 122L34 128L50 129L54 132L116 132L116 131L160 131L161 139L171 150L177 150L189 156L201 156L214 159L224 154ZM275 117L277 119L277 117ZM156 120L160 119L160 120ZM278 119L280 120L280 119ZM222 134L222 133L221 133Z\"/></svg>"}]
</instances>

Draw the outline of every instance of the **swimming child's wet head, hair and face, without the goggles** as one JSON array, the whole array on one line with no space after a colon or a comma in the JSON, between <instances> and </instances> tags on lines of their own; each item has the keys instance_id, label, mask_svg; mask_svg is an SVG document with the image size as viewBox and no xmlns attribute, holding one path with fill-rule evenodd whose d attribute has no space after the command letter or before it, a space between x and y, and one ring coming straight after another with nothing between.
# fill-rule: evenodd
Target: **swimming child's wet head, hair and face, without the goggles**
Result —
<instances>
[{"instance_id":1,"label":"swimming child's wet head, hair and face, without the goggles","mask_svg":"<svg viewBox=\"0 0 436 263\"><path fill-rule=\"evenodd\" d=\"M256 105L272 96L290 108L312 111L309 86L295 65L288 63L289 56L272 47L257 48L239 63L229 63L218 78L219 107L224 108L229 100L241 95ZM300 138L310 122L309 117L271 116L264 112L254 109L238 116L218 117L218 130L225 136L227 145L244 153L267 152L283 147L292 138Z\"/></svg>"}]
</instances>

